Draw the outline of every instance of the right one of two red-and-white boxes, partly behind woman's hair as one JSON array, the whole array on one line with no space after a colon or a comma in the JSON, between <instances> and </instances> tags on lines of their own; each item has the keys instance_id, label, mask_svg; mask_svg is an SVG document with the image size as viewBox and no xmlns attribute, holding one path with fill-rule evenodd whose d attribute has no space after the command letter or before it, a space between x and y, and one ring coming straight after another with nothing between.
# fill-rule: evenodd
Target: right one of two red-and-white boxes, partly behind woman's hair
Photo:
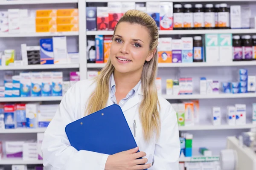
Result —
<instances>
[{"instance_id":1,"label":"right one of two red-and-white boxes, partly behind woman's hair","mask_svg":"<svg viewBox=\"0 0 256 170\"><path fill-rule=\"evenodd\" d=\"M108 2L108 30L113 31L117 22L122 17L122 3L121 2Z\"/></svg>"}]
</instances>

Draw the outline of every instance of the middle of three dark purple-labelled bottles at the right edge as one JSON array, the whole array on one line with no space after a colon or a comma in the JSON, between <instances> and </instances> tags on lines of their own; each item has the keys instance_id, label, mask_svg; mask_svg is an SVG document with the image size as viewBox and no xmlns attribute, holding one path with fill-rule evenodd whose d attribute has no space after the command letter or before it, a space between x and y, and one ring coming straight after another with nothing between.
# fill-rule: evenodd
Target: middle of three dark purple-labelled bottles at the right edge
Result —
<instances>
[{"instance_id":1,"label":"middle of three dark purple-labelled bottles at the right edge","mask_svg":"<svg viewBox=\"0 0 256 170\"><path fill-rule=\"evenodd\" d=\"M253 59L253 42L250 35L244 36L243 41L243 60Z\"/></svg>"}]
</instances>

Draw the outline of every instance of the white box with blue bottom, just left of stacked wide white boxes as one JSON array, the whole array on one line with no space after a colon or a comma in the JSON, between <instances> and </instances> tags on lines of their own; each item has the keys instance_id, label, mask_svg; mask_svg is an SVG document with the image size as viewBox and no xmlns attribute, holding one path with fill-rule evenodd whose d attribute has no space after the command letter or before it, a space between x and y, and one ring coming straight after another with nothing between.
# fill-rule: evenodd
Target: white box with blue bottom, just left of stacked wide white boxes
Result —
<instances>
[{"instance_id":1,"label":"white box with blue bottom, just left of stacked wide white boxes","mask_svg":"<svg viewBox=\"0 0 256 170\"><path fill-rule=\"evenodd\" d=\"M26 127L27 128L37 128L37 115L38 115L38 103L26 104Z\"/></svg>"}]
</instances>

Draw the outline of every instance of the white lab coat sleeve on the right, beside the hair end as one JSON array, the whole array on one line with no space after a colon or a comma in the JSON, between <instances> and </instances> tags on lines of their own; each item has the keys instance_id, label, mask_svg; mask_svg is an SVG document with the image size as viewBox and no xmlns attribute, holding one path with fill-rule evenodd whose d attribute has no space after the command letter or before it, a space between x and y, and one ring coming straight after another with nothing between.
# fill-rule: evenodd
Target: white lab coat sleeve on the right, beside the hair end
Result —
<instances>
[{"instance_id":1,"label":"white lab coat sleeve on the right, beside the hair end","mask_svg":"<svg viewBox=\"0 0 256 170\"><path fill-rule=\"evenodd\" d=\"M168 103L161 121L161 132L157 141L153 165L150 170L179 170L180 139L176 112Z\"/></svg>"}]
</instances>

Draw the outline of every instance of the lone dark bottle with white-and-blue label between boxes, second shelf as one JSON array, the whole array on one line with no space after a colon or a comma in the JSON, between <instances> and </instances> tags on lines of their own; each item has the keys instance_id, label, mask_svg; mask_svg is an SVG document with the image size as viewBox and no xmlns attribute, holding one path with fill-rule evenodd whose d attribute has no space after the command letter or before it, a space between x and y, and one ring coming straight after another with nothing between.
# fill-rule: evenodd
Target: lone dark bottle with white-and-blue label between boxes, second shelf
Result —
<instances>
[{"instance_id":1,"label":"lone dark bottle with white-and-blue label between boxes, second shelf","mask_svg":"<svg viewBox=\"0 0 256 170\"><path fill-rule=\"evenodd\" d=\"M193 40L193 62L203 62L203 42L202 37L196 36Z\"/></svg>"}]
</instances>

